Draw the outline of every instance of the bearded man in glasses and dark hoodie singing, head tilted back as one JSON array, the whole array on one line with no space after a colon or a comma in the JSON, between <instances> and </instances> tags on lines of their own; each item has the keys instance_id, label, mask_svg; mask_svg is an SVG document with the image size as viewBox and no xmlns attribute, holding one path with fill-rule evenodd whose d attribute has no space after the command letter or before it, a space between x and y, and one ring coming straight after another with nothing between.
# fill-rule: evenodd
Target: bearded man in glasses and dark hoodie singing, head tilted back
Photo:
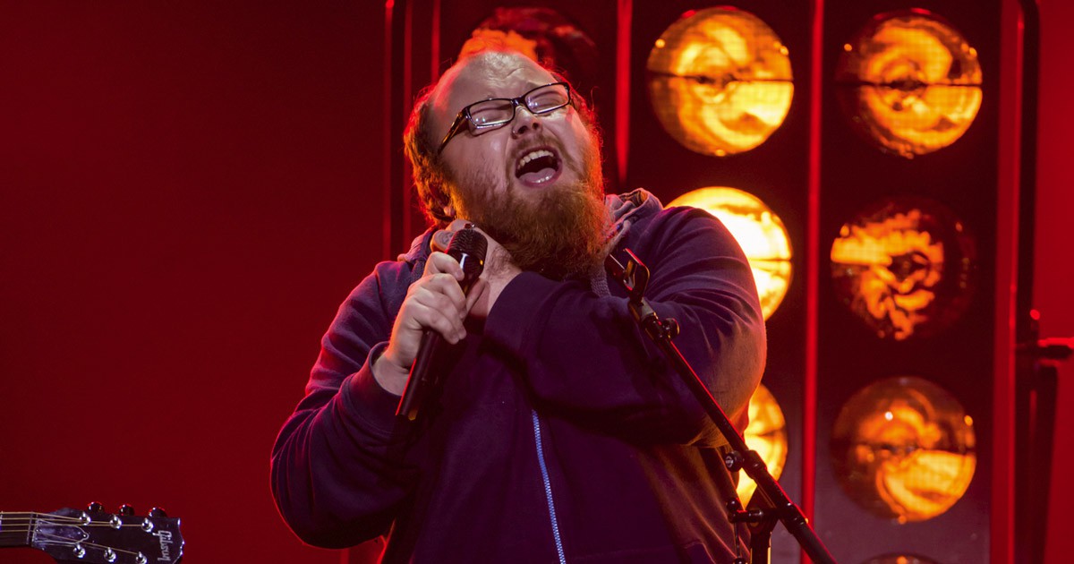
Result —
<instances>
[{"instance_id":1,"label":"bearded man in glasses and dark hoodie singing, head tilted back","mask_svg":"<svg viewBox=\"0 0 1074 564\"><path fill-rule=\"evenodd\" d=\"M604 259L632 249L645 298L741 431L765 363L745 257L705 212L604 196L600 139L562 77L509 50L460 60L415 104L407 155L431 229L378 264L329 328L273 449L280 514L306 543L386 535L382 562L730 563L725 442L638 329ZM489 242L464 293L441 252ZM401 434L422 332L435 400ZM740 532L744 533L744 532Z\"/></svg>"}]
</instances>

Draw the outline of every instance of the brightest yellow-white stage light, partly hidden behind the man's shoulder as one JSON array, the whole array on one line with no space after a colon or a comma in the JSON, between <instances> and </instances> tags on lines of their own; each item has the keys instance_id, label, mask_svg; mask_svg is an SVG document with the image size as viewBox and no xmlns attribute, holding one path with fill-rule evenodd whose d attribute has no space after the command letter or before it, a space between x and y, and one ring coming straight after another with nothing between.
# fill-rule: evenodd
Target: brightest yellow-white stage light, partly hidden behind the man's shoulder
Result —
<instances>
[{"instance_id":1,"label":"brightest yellow-white stage light, partly hidden behind the man's shoulder","mask_svg":"<svg viewBox=\"0 0 1074 564\"><path fill-rule=\"evenodd\" d=\"M727 187L699 188L669 205L699 207L724 223L750 259L760 294L760 309L768 319L790 286L790 237L783 221L759 198Z\"/></svg>"}]
</instances>

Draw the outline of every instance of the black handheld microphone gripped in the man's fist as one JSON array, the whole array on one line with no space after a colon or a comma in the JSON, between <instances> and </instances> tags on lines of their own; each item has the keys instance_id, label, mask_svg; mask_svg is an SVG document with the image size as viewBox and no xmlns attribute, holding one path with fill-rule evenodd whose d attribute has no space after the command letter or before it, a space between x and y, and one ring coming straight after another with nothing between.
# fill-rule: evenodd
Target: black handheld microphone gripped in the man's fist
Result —
<instances>
[{"instance_id":1,"label":"black handheld microphone gripped in the man's fist","mask_svg":"<svg viewBox=\"0 0 1074 564\"><path fill-rule=\"evenodd\" d=\"M463 279L459 283L463 293L468 293L470 286L477 281L484 269L484 254L489 248L489 241L479 233L474 226L467 223L465 228L455 232L448 244L447 254L459 261L463 267ZM421 343L418 345L418 356L410 366L410 377L407 378L406 389L400 400L398 408L395 409L395 417L405 416L413 421L418 418L418 410L430 391L436 387L439 375L433 370L433 357L436 351L444 346L444 337L432 329L426 329L421 334Z\"/></svg>"}]
</instances>

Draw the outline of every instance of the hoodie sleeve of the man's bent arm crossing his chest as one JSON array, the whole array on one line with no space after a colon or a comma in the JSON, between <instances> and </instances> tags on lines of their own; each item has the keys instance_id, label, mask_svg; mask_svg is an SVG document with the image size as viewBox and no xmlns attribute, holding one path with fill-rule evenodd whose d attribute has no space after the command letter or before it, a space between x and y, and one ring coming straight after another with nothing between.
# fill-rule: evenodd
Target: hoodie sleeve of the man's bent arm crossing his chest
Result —
<instances>
[{"instance_id":1,"label":"hoodie sleeve of the man's bent arm crossing his chest","mask_svg":"<svg viewBox=\"0 0 1074 564\"><path fill-rule=\"evenodd\" d=\"M673 343L741 432L766 353L742 250L717 219L693 208L639 221L624 246L651 271L647 301L662 319L679 322ZM636 442L722 444L701 404L638 328L625 291L615 293L598 297L580 283L523 273L496 301L485 337L522 367L538 408Z\"/></svg>"}]
</instances>

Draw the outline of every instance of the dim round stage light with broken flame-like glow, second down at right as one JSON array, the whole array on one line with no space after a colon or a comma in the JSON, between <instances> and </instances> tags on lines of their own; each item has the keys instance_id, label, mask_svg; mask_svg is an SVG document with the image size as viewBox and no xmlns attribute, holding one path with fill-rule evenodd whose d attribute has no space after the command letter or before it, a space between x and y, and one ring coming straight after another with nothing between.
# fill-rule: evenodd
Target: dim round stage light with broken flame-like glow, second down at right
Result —
<instances>
[{"instance_id":1,"label":"dim round stage light with broken flame-like glow, second down at right","mask_svg":"<svg viewBox=\"0 0 1074 564\"><path fill-rule=\"evenodd\" d=\"M836 291L880 337L934 334L973 293L973 237L946 207L924 198L873 204L831 245Z\"/></svg>"}]
</instances>

